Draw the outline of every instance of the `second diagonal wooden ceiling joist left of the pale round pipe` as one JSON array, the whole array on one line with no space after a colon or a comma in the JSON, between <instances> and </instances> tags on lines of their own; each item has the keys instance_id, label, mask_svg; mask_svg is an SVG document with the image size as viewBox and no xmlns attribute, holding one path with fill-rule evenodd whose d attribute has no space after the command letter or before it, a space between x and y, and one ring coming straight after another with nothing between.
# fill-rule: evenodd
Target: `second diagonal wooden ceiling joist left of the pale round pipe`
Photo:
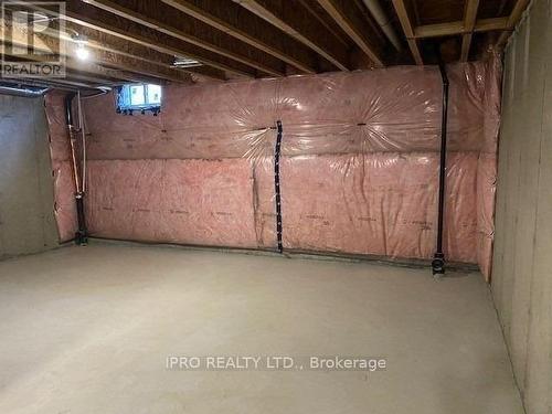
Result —
<instances>
[{"instance_id":1,"label":"second diagonal wooden ceiling joist left of the pale round pipe","mask_svg":"<svg viewBox=\"0 0 552 414\"><path fill-rule=\"evenodd\" d=\"M349 71L349 54L318 19L300 3L280 0L233 0L307 45L341 71Z\"/></svg>"}]
</instances>

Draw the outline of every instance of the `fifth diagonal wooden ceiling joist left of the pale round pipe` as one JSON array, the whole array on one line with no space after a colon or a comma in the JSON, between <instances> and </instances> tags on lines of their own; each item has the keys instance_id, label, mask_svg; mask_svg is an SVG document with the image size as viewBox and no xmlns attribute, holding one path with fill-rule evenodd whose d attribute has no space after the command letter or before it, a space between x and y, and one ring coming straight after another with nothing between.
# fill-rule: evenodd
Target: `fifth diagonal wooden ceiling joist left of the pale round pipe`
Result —
<instances>
[{"instance_id":1,"label":"fifth diagonal wooden ceiling joist left of the pale round pipe","mask_svg":"<svg viewBox=\"0 0 552 414\"><path fill-rule=\"evenodd\" d=\"M35 10L41 10L41 7L36 3L32 7ZM157 30L146 28L128 19L123 19L92 4L77 0L66 0L65 8L66 14L61 18L81 26L108 33L125 41L151 47L162 53L191 57L205 65L235 75L246 77L255 77L257 75L256 70L240 62L235 62L168 34L160 33Z\"/></svg>"}]
</instances>

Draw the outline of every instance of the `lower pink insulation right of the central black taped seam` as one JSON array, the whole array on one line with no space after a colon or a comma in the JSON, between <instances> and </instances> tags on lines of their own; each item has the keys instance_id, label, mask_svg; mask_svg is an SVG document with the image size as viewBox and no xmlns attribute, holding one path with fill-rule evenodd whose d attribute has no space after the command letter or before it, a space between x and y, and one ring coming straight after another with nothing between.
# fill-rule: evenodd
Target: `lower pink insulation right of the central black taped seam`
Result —
<instances>
[{"instance_id":1,"label":"lower pink insulation right of the central black taped seam","mask_svg":"<svg viewBox=\"0 0 552 414\"><path fill-rule=\"evenodd\" d=\"M450 153L448 166L447 195L454 209L446 214L445 245L453 259L475 263L477 155ZM432 152L284 158L284 247L429 258L437 172L438 155Z\"/></svg>"}]
</instances>

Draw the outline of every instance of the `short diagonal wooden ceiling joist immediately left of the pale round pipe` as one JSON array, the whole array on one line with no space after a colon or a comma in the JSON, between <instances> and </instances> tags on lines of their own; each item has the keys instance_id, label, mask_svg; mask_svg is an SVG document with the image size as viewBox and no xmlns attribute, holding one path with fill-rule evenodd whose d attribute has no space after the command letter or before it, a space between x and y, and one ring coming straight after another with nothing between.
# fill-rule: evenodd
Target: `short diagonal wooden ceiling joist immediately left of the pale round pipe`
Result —
<instances>
[{"instance_id":1,"label":"short diagonal wooden ceiling joist immediately left of the pale round pipe","mask_svg":"<svg viewBox=\"0 0 552 414\"><path fill-rule=\"evenodd\" d=\"M375 66L384 66L381 53L371 40L373 34L369 32L368 23L359 10L351 7L350 0L318 0L318 2Z\"/></svg>"}]
</instances>

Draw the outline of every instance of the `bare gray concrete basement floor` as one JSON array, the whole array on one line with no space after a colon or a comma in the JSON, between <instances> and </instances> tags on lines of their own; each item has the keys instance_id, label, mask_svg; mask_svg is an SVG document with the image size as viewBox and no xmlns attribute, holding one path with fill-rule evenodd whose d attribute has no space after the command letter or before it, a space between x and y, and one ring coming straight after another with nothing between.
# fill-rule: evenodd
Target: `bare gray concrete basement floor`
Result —
<instances>
[{"instance_id":1,"label":"bare gray concrete basement floor","mask_svg":"<svg viewBox=\"0 0 552 414\"><path fill-rule=\"evenodd\" d=\"M0 263L0 413L522 413L480 275L91 245ZM168 355L385 371L169 371Z\"/></svg>"}]
</instances>

